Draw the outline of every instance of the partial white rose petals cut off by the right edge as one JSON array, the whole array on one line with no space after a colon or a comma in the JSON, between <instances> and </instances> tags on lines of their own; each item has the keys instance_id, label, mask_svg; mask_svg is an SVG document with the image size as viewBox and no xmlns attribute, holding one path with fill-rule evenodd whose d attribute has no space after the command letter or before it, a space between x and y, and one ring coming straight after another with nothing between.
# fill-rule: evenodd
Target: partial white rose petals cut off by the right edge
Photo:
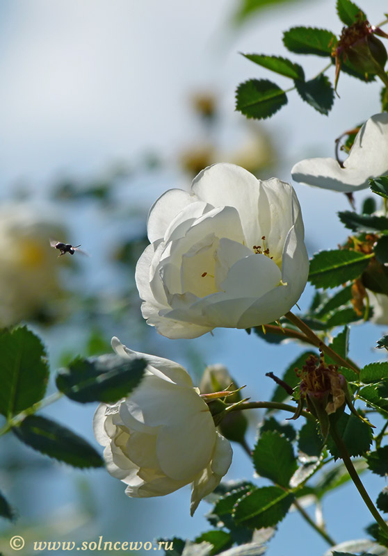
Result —
<instances>
[{"instance_id":1,"label":"partial white rose petals cut off by the right edge","mask_svg":"<svg viewBox=\"0 0 388 556\"><path fill-rule=\"evenodd\" d=\"M369 179L388 173L388 113L375 114L355 137L343 167L334 158L307 158L291 170L308 186L353 193L369 187Z\"/></svg>"}]
</instances>

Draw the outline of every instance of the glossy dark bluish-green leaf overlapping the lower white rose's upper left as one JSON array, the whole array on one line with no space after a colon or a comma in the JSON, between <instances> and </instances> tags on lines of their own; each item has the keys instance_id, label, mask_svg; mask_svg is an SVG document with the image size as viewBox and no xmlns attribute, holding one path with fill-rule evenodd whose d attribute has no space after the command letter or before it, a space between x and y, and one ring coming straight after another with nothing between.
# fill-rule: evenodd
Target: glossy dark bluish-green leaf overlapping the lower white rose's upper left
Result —
<instances>
[{"instance_id":1,"label":"glossy dark bluish-green leaf overlapping the lower white rose's upper left","mask_svg":"<svg viewBox=\"0 0 388 556\"><path fill-rule=\"evenodd\" d=\"M140 384L147 366L144 359L123 359L108 354L76 359L56 377L58 390L75 402L114 403Z\"/></svg>"}]
</instances>

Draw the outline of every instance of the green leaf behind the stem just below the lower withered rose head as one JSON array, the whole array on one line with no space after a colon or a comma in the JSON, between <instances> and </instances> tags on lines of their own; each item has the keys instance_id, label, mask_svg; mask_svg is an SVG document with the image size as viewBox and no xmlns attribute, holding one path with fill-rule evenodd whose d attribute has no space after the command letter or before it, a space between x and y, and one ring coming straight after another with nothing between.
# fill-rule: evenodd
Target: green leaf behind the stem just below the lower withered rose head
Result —
<instances>
[{"instance_id":1,"label":"green leaf behind the stem just below the lower withered rose head","mask_svg":"<svg viewBox=\"0 0 388 556\"><path fill-rule=\"evenodd\" d=\"M361 419L351 414L343 413L337 422L337 432L351 457L364 455L372 443L372 430ZM337 446L328 436L328 449L334 458L341 457Z\"/></svg>"}]
</instances>

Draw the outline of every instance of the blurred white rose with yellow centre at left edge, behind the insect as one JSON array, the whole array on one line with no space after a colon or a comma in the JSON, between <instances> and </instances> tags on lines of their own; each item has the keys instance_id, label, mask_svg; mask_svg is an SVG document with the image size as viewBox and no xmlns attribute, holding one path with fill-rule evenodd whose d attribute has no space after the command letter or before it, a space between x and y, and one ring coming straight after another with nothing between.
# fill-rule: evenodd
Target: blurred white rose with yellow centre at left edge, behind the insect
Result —
<instances>
[{"instance_id":1,"label":"blurred white rose with yellow centre at left edge, behind the insect","mask_svg":"<svg viewBox=\"0 0 388 556\"><path fill-rule=\"evenodd\" d=\"M35 318L60 294L58 259L49 245L60 233L47 207L0 206L0 327Z\"/></svg>"}]
</instances>

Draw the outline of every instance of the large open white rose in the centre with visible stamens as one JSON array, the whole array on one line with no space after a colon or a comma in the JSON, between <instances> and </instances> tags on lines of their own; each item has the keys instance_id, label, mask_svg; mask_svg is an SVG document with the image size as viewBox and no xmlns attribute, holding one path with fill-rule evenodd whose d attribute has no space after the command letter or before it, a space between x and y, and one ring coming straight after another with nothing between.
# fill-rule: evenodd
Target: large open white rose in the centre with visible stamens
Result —
<instances>
[{"instance_id":1,"label":"large open white rose in the centre with visible stamens","mask_svg":"<svg viewBox=\"0 0 388 556\"><path fill-rule=\"evenodd\" d=\"M309 260L298 198L234 164L207 167L191 193L171 189L149 212L136 266L143 317L168 338L277 320L305 289Z\"/></svg>"}]
</instances>

